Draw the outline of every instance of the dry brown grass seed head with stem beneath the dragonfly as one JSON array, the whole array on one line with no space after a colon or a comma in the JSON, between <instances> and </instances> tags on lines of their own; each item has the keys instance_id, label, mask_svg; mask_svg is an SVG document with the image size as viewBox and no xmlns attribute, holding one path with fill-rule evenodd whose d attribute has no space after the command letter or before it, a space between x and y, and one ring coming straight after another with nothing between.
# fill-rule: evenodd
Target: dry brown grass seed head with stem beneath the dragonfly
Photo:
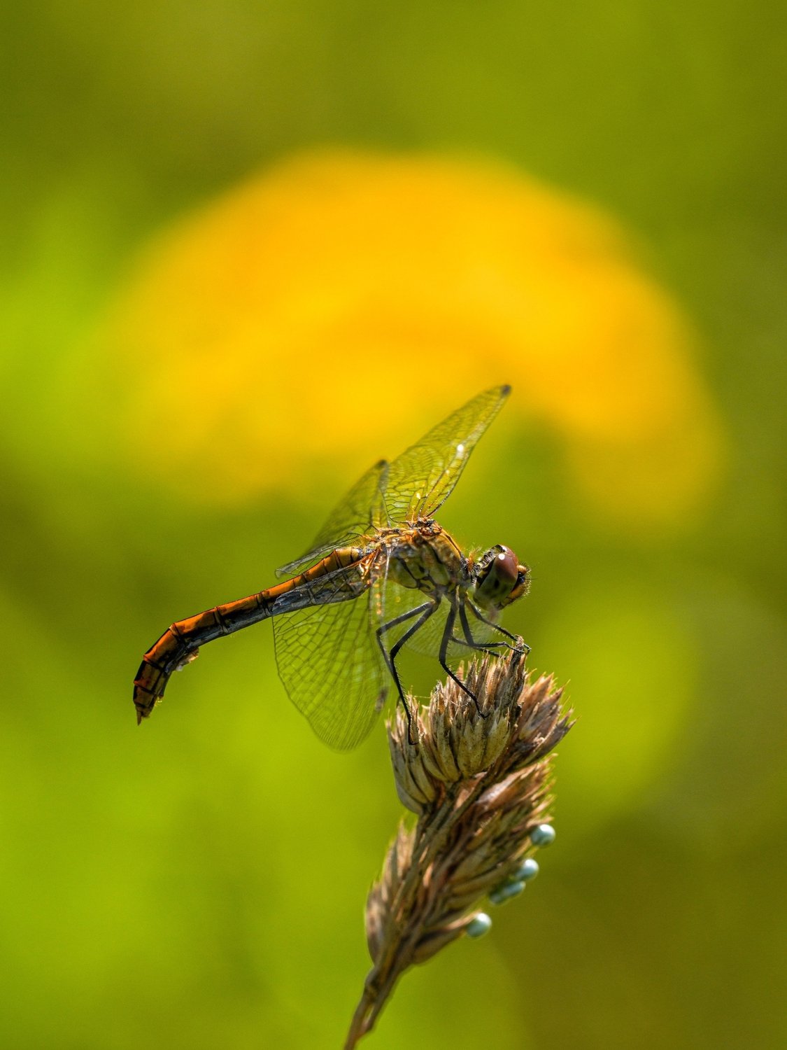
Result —
<instances>
[{"instance_id":1,"label":"dry brown grass seed head with stem beneath the dragonfly","mask_svg":"<svg viewBox=\"0 0 787 1050\"><path fill-rule=\"evenodd\" d=\"M550 821L551 755L570 729L553 679L532 681L525 656L485 656L465 682L438 685L408 729L388 722L403 822L366 903L373 968L345 1043L371 1030L402 973L466 934L478 903L505 885ZM410 742L411 737L414 743Z\"/></svg>"}]
</instances>

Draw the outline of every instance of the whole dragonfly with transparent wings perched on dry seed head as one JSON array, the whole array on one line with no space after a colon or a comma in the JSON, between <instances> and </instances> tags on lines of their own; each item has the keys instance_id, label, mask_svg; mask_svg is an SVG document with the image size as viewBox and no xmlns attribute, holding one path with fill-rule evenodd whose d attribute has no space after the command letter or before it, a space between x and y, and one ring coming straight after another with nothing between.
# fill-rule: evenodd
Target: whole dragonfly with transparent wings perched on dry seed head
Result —
<instances>
[{"instance_id":1,"label":"whole dragonfly with transparent wings perched on dry seed head","mask_svg":"<svg viewBox=\"0 0 787 1050\"><path fill-rule=\"evenodd\" d=\"M306 553L277 570L282 583L168 627L134 678L137 723L200 646L269 618L290 698L337 750L368 735L391 682L413 739L398 665L404 646L437 655L475 699L449 660L458 653L529 651L499 620L527 593L530 570L503 544L465 553L434 514L510 390L485 391L397 459L375 463Z\"/></svg>"}]
</instances>

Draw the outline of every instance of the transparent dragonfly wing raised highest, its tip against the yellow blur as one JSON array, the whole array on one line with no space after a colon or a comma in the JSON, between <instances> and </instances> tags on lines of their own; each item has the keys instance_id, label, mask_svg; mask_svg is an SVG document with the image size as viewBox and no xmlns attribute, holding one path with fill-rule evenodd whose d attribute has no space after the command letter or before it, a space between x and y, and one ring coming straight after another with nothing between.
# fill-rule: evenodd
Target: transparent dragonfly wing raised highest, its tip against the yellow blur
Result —
<instances>
[{"instance_id":1,"label":"transparent dragonfly wing raised highest, its tip against the yellow blur","mask_svg":"<svg viewBox=\"0 0 787 1050\"><path fill-rule=\"evenodd\" d=\"M385 512L393 525L431 518L442 506L510 391L495 386L478 394L393 460L382 479Z\"/></svg>"}]
</instances>

